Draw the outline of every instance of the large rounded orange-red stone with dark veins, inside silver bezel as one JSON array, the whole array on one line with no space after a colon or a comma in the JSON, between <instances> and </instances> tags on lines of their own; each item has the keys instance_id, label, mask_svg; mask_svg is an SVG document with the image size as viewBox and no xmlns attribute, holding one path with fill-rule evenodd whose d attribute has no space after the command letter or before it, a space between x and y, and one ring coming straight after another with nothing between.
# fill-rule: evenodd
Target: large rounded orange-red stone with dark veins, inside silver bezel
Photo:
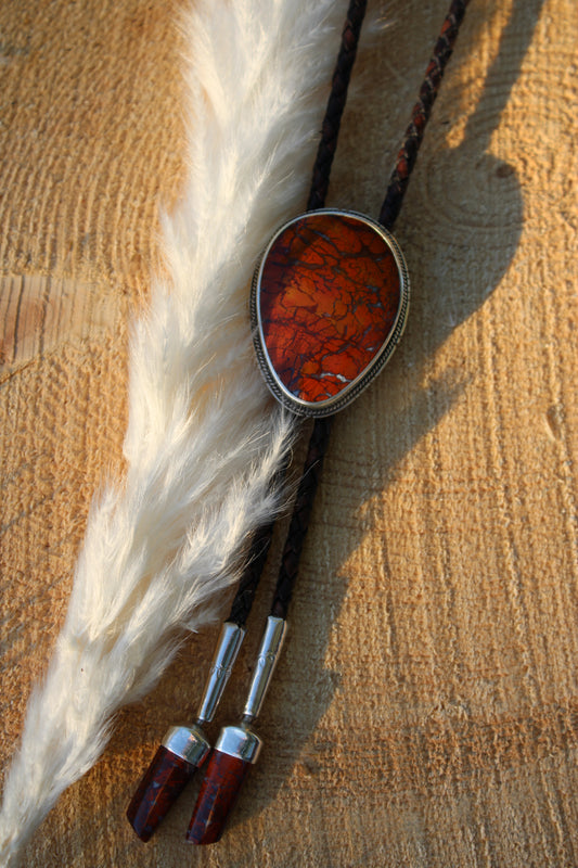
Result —
<instances>
[{"instance_id":1,"label":"large rounded orange-red stone with dark veins, inside silver bezel","mask_svg":"<svg viewBox=\"0 0 578 868\"><path fill-rule=\"evenodd\" d=\"M311 212L266 252L257 291L261 341L278 380L300 401L334 403L391 339L403 285L388 238L367 218Z\"/></svg>"}]
</instances>

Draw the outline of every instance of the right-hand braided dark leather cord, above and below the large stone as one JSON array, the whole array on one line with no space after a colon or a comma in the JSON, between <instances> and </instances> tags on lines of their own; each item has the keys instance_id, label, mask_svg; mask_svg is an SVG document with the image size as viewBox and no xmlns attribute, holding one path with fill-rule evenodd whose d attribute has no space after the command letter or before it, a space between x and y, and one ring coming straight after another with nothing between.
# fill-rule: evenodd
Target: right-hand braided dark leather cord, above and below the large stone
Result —
<instances>
[{"instance_id":1,"label":"right-hand braided dark leather cord, above and below the large stone","mask_svg":"<svg viewBox=\"0 0 578 868\"><path fill-rule=\"evenodd\" d=\"M409 179L418 151L423 139L425 127L432 114L432 106L437 97L439 85L447 63L451 56L460 24L462 23L465 8L470 0L453 0L450 11L444 21L440 36L436 42L434 54L424 81L420 89L418 103L412 113L412 120L406 131L403 144L399 151L396 167L391 174L384 204L380 213L380 222L391 229L408 188ZM326 189L326 188L325 188ZM317 207L321 207L323 202ZM318 481L321 476L323 456L329 444L332 417L316 419L311 439L309 442L304 475L297 492L297 498L291 520L281 567L277 583L271 614L277 617L286 617L293 587L297 578L299 558L303 551L309 516L313 507Z\"/></svg>"}]
</instances>

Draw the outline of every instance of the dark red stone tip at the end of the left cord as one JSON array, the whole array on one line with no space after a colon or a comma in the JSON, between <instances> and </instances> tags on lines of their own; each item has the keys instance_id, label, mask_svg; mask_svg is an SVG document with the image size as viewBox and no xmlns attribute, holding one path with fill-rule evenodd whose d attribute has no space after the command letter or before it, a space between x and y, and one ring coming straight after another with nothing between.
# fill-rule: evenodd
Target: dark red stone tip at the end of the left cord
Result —
<instances>
[{"instance_id":1,"label":"dark red stone tip at the end of the left cord","mask_svg":"<svg viewBox=\"0 0 578 868\"><path fill-rule=\"evenodd\" d=\"M127 808L129 822L141 841L149 841L194 770L194 766L172 751L158 748Z\"/></svg>"}]
</instances>

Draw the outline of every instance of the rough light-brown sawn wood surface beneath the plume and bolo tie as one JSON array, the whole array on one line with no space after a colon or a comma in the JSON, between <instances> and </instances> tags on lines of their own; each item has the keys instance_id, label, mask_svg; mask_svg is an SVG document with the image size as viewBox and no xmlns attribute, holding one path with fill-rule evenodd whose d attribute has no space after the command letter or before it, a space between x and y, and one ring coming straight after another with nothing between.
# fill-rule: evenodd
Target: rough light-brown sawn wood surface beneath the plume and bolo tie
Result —
<instances>
[{"instance_id":1,"label":"rough light-brown sawn wood surface beneath the plume and bolo tie","mask_svg":"<svg viewBox=\"0 0 578 868\"><path fill-rule=\"evenodd\" d=\"M361 47L327 205L378 213L446 5L396 0ZM2 768L121 463L128 308L183 177L175 13L0 8ZM397 225L407 332L334 423L264 752L195 865L578 864L577 34L574 0L471 3ZM146 846L124 814L215 638L120 715L27 868L190 864L194 788Z\"/></svg>"}]
</instances>

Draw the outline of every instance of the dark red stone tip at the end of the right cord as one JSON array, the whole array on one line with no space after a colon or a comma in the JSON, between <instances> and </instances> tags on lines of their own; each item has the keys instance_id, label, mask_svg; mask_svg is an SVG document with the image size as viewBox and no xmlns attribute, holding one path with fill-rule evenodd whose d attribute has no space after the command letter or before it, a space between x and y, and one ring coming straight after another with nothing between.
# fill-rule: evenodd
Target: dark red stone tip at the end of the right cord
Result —
<instances>
[{"instance_id":1,"label":"dark red stone tip at the end of the right cord","mask_svg":"<svg viewBox=\"0 0 578 868\"><path fill-rule=\"evenodd\" d=\"M219 841L251 766L237 756L213 751L187 832L191 844Z\"/></svg>"}]
</instances>

